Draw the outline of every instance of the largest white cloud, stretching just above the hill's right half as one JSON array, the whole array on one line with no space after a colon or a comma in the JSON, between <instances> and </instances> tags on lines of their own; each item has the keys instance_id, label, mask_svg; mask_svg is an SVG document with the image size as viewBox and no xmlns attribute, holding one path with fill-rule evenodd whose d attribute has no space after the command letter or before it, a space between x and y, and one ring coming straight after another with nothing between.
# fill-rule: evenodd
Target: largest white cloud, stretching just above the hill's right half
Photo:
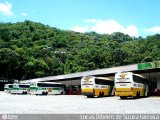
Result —
<instances>
[{"instance_id":1,"label":"largest white cloud, stretching just above the hill's right half","mask_svg":"<svg viewBox=\"0 0 160 120\"><path fill-rule=\"evenodd\" d=\"M88 31L95 31L97 33L101 34L112 34L113 32L122 32L125 34L128 34L130 36L135 36L138 37L138 29L134 25L129 25L127 27L119 24L115 20L96 20L96 19L86 19L84 20L85 23L94 23L94 25L87 27L82 27L82 26L76 26L76 28L81 28L83 32L88 32ZM73 27L75 28L75 27ZM71 29L77 32L78 29Z\"/></svg>"}]
</instances>

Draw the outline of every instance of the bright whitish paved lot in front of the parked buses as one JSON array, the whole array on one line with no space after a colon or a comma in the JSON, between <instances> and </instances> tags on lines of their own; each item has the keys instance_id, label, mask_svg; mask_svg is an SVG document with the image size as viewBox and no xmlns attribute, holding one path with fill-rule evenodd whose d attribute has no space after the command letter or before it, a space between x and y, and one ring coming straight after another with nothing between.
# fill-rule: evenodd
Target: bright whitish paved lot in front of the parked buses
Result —
<instances>
[{"instance_id":1,"label":"bright whitish paved lot in front of the parked buses","mask_svg":"<svg viewBox=\"0 0 160 120\"><path fill-rule=\"evenodd\" d=\"M160 114L160 97L121 100L82 95L10 95L0 92L0 114Z\"/></svg>"}]
</instances>

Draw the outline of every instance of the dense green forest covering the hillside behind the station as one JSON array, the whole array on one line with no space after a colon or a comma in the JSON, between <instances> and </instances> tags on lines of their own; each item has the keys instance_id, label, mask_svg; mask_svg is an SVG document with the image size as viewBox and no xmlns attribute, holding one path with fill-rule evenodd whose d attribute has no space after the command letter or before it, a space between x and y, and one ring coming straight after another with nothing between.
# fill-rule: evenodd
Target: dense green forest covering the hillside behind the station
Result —
<instances>
[{"instance_id":1,"label":"dense green forest covering the hillside behind the station","mask_svg":"<svg viewBox=\"0 0 160 120\"><path fill-rule=\"evenodd\" d=\"M106 28L107 29L107 28ZM30 79L160 59L160 35L78 33L31 21L0 23L0 77Z\"/></svg>"}]
</instances>

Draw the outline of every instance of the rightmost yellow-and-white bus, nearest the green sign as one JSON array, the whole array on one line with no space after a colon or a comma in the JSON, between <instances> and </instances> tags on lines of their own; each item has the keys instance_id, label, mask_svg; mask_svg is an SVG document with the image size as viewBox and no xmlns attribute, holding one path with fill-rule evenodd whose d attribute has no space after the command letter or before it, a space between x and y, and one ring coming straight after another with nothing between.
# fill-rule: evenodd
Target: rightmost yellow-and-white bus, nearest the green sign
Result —
<instances>
[{"instance_id":1,"label":"rightmost yellow-and-white bus, nearest the green sign","mask_svg":"<svg viewBox=\"0 0 160 120\"><path fill-rule=\"evenodd\" d=\"M148 88L148 80L139 74L132 72L115 74L115 96L120 96L121 99L148 96Z\"/></svg>"}]
</instances>

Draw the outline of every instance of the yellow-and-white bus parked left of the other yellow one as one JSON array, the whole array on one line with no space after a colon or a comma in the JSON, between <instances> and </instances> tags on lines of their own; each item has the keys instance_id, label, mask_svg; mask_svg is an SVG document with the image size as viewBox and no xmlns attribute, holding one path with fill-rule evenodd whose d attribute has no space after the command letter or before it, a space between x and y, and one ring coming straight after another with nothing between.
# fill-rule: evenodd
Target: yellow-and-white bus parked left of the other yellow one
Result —
<instances>
[{"instance_id":1,"label":"yellow-and-white bus parked left of the other yellow one","mask_svg":"<svg viewBox=\"0 0 160 120\"><path fill-rule=\"evenodd\" d=\"M106 77L84 76L81 78L81 93L88 98L114 95L114 81Z\"/></svg>"}]
</instances>

